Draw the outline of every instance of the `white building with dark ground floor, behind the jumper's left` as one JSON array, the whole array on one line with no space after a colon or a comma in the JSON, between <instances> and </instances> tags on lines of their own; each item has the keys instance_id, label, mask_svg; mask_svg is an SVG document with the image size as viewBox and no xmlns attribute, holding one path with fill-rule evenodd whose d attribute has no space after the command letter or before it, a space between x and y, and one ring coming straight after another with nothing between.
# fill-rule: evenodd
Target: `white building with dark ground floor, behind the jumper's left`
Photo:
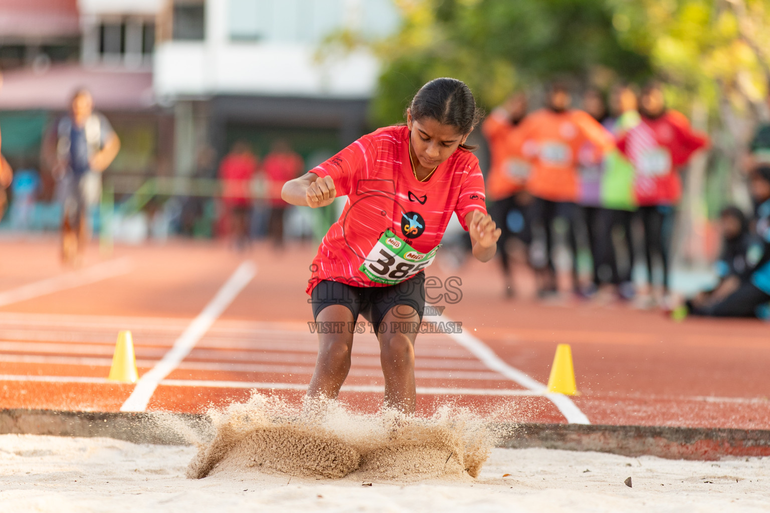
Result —
<instances>
[{"instance_id":1,"label":"white building with dark ground floor, behind the jumper's left","mask_svg":"<svg viewBox=\"0 0 770 513\"><path fill-rule=\"evenodd\" d=\"M201 148L246 139L265 155L285 138L313 165L367 130L378 75L367 52L319 57L327 35L397 28L392 0L169 0L159 18L154 88L174 112L175 168Z\"/></svg>"}]
</instances>

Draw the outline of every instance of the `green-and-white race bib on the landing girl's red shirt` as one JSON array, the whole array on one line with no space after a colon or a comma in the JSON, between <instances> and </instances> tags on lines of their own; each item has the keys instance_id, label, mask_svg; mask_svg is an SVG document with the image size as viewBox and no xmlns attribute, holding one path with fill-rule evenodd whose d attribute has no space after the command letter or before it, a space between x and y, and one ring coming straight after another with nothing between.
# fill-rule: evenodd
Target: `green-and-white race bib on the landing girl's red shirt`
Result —
<instances>
[{"instance_id":1,"label":"green-and-white race bib on the landing girl's red shirt","mask_svg":"<svg viewBox=\"0 0 770 513\"><path fill-rule=\"evenodd\" d=\"M358 269L371 281L396 285L432 264L440 246L437 245L430 252L420 253L393 232L386 230Z\"/></svg>"}]
</instances>

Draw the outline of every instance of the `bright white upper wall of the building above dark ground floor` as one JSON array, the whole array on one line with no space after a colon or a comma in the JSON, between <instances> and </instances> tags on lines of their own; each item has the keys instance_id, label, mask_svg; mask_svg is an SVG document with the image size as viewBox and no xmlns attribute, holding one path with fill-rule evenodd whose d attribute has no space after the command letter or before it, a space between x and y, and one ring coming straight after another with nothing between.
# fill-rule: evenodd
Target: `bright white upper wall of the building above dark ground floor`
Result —
<instances>
[{"instance_id":1,"label":"bright white upper wall of the building above dark ground floor","mask_svg":"<svg viewBox=\"0 0 770 513\"><path fill-rule=\"evenodd\" d=\"M391 0L206 0L203 42L156 47L156 94L368 98L377 59L361 51L321 63L318 45L335 28L384 35L397 22Z\"/></svg>"}]
</instances>

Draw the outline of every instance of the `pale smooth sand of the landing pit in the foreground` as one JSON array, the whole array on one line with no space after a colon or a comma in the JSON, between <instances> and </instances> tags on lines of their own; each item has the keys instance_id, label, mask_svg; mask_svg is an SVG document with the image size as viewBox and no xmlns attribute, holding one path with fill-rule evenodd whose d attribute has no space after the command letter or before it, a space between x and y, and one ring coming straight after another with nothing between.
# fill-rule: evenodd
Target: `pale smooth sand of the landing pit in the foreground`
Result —
<instances>
[{"instance_id":1,"label":"pale smooth sand of the landing pit in the foreground","mask_svg":"<svg viewBox=\"0 0 770 513\"><path fill-rule=\"evenodd\" d=\"M770 458L494 449L475 480L362 486L256 472L191 480L184 475L195 453L111 438L0 435L0 511L770 511ZM633 488L623 484L629 476Z\"/></svg>"}]
</instances>

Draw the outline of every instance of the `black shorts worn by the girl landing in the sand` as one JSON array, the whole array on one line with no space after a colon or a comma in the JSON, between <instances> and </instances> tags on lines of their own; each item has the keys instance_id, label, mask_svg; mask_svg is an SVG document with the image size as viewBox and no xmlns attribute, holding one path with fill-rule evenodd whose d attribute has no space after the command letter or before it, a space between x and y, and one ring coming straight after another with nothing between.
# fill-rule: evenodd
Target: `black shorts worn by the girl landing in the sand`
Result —
<instances>
[{"instance_id":1,"label":"black shorts worn by the girl landing in the sand","mask_svg":"<svg viewBox=\"0 0 770 513\"><path fill-rule=\"evenodd\" d=\"M344 305L353 314L353 321L357 321L361 314L378 330L390 308L407 305L417 311L422 321L425 311L425 272L420 271L413 278L385 287L354 287L340 281L323 280L310 293L310 302L313 305L313 320L329 305Z\"/></svg>"}]
</instances>

